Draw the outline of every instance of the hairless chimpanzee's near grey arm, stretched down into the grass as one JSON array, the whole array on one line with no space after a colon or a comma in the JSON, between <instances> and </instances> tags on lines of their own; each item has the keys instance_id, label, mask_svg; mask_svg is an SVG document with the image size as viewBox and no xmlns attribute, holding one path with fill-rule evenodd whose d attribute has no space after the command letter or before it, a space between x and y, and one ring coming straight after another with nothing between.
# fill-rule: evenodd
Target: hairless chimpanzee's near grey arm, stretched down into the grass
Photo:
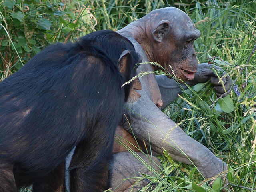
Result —
<instances>
[{"instance_id":1,"label":"hairless chimpanzee's near grey arm, stretched down into the grass","mask_svg":"<svg viewBox=\"0 0 256 192\"><path fill-rule=\"evenodd\" d=\"M142 80L141 82L143 83ZM158 154L162 154L163 147L174 160L193 163L205 178L216 176L226 169L226 163L186 135L151 101L143 89L138 92L141 94L140 99L126 104L125 111L137 139L144 140L147 145L150 143L152 150ZM127 122L124 123L124 128L131 133Z\"/></svg>"}]
</instances>

